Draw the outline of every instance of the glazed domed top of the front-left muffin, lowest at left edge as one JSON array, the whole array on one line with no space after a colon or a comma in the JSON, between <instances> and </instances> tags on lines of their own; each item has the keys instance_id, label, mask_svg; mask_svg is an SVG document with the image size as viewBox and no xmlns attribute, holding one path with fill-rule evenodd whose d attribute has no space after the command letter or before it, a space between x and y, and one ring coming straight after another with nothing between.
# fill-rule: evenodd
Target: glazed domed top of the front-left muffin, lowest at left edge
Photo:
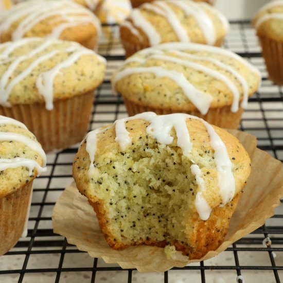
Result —
<instances>
[{"instance_id":1,"label":"glazed domed top of the front-left muffin, lowest at left edge","mask_svg":"<svg viewBox=\"0 0 283 283\"><path fill-rule=\"evenodd\" d=\"M46 155L26 126L0 116L0 198L30 183L45 165Z\"/></svg>"}]
</instances>

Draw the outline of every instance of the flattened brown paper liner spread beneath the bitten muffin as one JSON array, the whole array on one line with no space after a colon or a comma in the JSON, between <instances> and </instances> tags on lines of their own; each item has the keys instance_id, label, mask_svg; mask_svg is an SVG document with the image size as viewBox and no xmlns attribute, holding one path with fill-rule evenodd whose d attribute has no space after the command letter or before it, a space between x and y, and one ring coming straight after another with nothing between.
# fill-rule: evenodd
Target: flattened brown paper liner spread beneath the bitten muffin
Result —
<instances>
[{"instance_id":1,"label":"flattened brown paper liner spread beneath the bitten muffin","mask_svg":"<svg viewBox=\"0 0 283 283\"><path fill-rule=\"evenodd\" d=\"M281 162L256 148L256 138L250 134L229 130L243 144L252 160L252 172L237 205L225 241L216 251L208 252L200 260L188 260L177 253L167 259L164 249L151 246L133 246L115 251L105 241L95 212L75 183L67 187L57 201L53 215L54 232L66 237L70 244L92 257L107 263L118 263L121 268L136 268L140 272L163 272L172 267L184 267L190 262L206 260L218 255L238 239L260 227L274 215L274 208L283 197L283 169Z\"/></svg>"}]
</instances>

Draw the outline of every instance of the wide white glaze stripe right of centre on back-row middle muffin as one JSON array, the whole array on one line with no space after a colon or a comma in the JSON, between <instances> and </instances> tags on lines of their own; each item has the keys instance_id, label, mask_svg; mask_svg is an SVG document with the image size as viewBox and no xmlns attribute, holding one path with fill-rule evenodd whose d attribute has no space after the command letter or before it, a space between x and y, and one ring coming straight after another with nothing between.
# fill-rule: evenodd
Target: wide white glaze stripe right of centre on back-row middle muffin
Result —
<instances>
[{"instance_id":1,"label":"wide white glaze stripe right of centre on back-row middle muffin","mask_svg":"<svg viewBox=\"0 0 283 283\"><path fill-rule=\"evenodd\" d=\"M193 16L202 30L207 44L215 44L216 34L214 24L210 17L205 13L205 10L202 9L199 4L182 0L167 0L166 2L169 2L182 9L186 15Z\"/></svg>"}]
</instances>

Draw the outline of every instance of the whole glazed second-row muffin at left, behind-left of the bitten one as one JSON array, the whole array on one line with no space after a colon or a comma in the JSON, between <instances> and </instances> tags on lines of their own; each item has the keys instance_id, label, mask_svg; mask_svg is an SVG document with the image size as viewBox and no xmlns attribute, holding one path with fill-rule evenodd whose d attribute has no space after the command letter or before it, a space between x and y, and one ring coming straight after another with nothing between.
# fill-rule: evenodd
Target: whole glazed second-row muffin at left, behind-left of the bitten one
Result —
<instances>
[{"instance_id":1,"label":"whole glazed second-row muffin at left, behind-left of the bitten one","mask_svg":"<svg viewBox=\"0 0 283 283\"><path fill-rule=\"evenodd\" d=\"M76 42L26 38L0 44L0 114L20 120L46 151L80 141L105 59Z\"/></svg>"}]
</instances>

